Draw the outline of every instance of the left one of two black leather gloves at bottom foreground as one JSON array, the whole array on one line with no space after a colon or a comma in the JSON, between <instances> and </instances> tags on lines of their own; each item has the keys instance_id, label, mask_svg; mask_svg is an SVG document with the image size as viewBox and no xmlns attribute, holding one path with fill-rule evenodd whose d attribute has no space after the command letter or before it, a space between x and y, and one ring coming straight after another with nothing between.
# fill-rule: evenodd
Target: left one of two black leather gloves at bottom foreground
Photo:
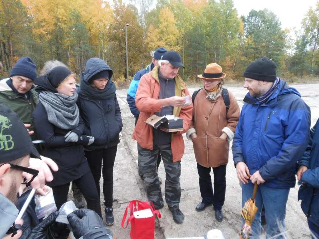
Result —
<instances>
[{"instance_id":1,"label":"left one of two black leather gloves at bottom foreground","mask_svg":"<svg viewBox=\"0 0 319 239\"><path fill-rule=\"evenodd\" d=\"M59 212L51 213L38 226L33 228L27 239L67 239L70 230L67 224L56 222Z\"/></svg>"}]
</instances>

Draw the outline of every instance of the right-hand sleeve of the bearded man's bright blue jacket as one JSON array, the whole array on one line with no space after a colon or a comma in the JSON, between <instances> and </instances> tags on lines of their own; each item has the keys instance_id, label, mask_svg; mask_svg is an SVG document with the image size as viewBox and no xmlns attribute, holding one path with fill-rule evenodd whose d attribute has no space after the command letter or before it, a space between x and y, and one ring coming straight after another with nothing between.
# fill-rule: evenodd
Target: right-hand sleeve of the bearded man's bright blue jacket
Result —
<instances>
[{"instance_id":1,"label":"right-hand sleeve of the bearded man's bright blue jacket","mask_svg":"<svg viewBox=\"0 0 319 239\"><path fill-rule=\"evenodd\" d=\"M310 116L310 108L303 100L293 102L281 150L259 169L265 181L274 179L287 169L293 168L304 154L309 141Z\"/></svg>"}]
</instances>

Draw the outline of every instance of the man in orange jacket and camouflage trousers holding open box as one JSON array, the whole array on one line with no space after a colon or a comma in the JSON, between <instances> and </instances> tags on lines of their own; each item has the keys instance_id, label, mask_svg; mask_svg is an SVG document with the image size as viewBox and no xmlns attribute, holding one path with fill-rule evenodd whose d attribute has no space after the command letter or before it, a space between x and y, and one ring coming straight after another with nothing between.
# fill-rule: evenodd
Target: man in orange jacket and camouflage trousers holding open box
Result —
<instances>
[{"instance_id":1,"label":"man in orange jacket and camouflage trousers holding open box","mask_svg":"<svg viewBox=\"0 0 319 239\"><path fill-rule=\"evenodd\" d=\"M177 74L182 57L175 51L163 54L159 66L142 76L136 92L136 106L140 111L133 139L137 141L140 171L142 173L147 199L155 209L164 206L159 177L157 158L160 152L166 172L165 200L176 223L182 223L184 215L179 209L181 199L181 158L185 145L182 134L192 119L193 105L186 105L185 96L189 91L182 78ZM167 133L154 129L145 123L153 114L157 116L175 115L183 119L183 131Z\"/></svg>"}]
</instances>

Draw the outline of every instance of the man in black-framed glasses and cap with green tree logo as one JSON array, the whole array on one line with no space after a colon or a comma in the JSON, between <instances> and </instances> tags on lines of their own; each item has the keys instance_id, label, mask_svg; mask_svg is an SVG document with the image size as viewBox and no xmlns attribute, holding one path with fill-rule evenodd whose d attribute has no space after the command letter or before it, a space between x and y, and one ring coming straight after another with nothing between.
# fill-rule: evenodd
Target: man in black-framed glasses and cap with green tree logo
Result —
<instances>
[{"instance_id":1,"label":"man in black-framed glasses and cap with green tree logo","mask_svg":"<svg viewBox=\"0 0 319 239\"><path fill-rule=\"evenodd\" d=\"M33 159L30 159L30 156ZM46 163L52 170L58 170L52 160L39 159L41 157L19 116L8 107L0 105L0 238L5 236L18 216L19 211L15 204L21 183L31 184L35 189L41 190L46 180L53 179ZM32 167L34 161L37 170ZM45 171L41 170L43 165L46 166ZM37 177L38 175L41 178ZM16 223L22 225L23 221ZM13 238L19 238L21 234L22 230L18 230ZM8 238L12 238L11 235L8 235Z\"/></svg>"}]
</instances>

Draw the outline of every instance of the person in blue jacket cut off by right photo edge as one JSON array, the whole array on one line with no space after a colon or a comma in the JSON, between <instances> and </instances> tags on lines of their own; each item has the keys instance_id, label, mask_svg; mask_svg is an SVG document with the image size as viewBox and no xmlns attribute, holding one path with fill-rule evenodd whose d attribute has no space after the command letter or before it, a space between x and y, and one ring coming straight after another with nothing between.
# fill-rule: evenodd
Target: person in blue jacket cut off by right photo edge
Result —
<instances>
[{"instance_id":1,"label":"person in blue jacket cut off by right photo edge","mask_svg":"<svg viewBox=\"0 0 319 239\"><path fill-rule=\"evenodd\" d=\"M312 238L319 238L319 119L310 130L306 152L300 159L297 177L301 184L298 200L308 219Z\"/></svg>"}]
</instances>

